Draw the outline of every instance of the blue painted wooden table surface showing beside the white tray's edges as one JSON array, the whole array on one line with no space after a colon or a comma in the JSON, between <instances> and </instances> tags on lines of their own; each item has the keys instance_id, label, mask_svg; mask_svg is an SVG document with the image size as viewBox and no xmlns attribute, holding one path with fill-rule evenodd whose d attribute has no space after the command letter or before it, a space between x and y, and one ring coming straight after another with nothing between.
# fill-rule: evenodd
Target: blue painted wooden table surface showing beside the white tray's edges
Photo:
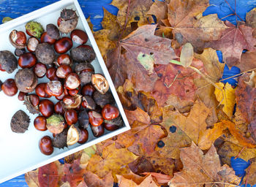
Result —
<instances>
[{"instance_id":1,"label":"blue painted wooden table surface showing beside the white tray's edges","mask_svg":"<svg viewBox=\"0 0 256 187\"><path fill-rule=\"evenodd\" d=\"M58 0L0 0L0 23L4 17L18 18L21 15L25 15L36 9L45 7ZM91 23L94 25L94 31L102 28L101 21L103 19L103 9L116 15L118 8L110 5L112 0L78 0L80 6L83 9L83 13L86 18L91 19ZM0 187L28 187L25 181L24 175L20 175L17 178L13 178L5 183L1 183Z\"/></svg>"}]
</instances>

